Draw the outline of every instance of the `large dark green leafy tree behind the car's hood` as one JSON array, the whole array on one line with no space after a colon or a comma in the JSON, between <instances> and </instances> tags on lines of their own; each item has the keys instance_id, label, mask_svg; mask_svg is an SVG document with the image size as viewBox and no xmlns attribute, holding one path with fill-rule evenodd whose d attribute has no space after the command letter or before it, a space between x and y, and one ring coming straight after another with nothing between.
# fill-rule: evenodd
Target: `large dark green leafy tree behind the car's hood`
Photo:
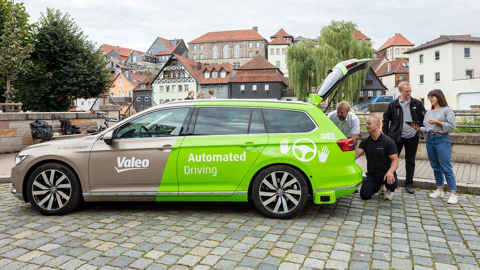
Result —
<instances>
[{"instance_id":1,"label":"large dark green leafy tree behind the car's hood","mask_svg":"<svg viewBox=\"0 0 480 270\"><path fill-rule=\"evenodd\" d=\"M17 100L33 111L64 111L76 98L106 93L106 59L68 14L47 8L33 31L32 67L21 79Z\"/></svg>"}]
</instances>

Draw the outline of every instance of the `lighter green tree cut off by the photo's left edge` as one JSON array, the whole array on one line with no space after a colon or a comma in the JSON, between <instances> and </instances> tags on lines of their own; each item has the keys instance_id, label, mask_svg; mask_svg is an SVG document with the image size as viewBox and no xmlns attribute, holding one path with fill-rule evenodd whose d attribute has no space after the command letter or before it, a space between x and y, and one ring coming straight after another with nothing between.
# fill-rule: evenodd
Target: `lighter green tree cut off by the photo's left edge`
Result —
<instances>
[{"instance_id":1,"label":"lighter green tree cut off by the photo's left edge","mask_svg":"<svg viewBox=\"0 0 480 270\"><path fill-rule=\"evenodd\" d=\"M31 25L22 3L0 0L0 94L10 102L12 82L26 72L32 50Z\"/></svg>"}]
</instances>

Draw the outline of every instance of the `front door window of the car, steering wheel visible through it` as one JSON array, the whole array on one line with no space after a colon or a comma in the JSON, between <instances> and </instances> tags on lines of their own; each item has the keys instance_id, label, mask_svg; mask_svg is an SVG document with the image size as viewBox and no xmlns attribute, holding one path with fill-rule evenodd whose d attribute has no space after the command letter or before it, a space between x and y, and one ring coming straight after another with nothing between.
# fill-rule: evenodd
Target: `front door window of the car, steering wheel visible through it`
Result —
<instances>
[{"instance_id":1,"label":"front door window of the car, steering wheel visible through it","mask_svg":"<svg viewBox=\"0 0 480 270\"><path fill-rule=\"evenodd\" d=\"M178 136L189 108L170 108L149 112L122 125L115 139Z\"/></svg>"}]
</instances>

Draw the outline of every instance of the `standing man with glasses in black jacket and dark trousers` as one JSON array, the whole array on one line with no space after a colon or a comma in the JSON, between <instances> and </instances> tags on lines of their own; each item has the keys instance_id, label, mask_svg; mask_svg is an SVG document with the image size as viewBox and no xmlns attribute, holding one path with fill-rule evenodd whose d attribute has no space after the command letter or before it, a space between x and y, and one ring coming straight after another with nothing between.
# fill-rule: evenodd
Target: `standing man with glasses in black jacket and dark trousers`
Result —
<instances>
[{"instance_id":1,"label":"standing man with glasses in black jacket and dark trousers","mask_svg":"<svg viewBox=\"0 0 480 270\"><path fill-rule=\"evenodd\" d=\"M402 81L398 84L400 96L388 104L383 113L382 132L395 141L398 155L405 146L405 189L413 193L413 173L415 172L415 156L418 148L418 134L405 121L423 123L425 108L420 100L410 96L410 83Z\"/></svg>"}]
</instances>

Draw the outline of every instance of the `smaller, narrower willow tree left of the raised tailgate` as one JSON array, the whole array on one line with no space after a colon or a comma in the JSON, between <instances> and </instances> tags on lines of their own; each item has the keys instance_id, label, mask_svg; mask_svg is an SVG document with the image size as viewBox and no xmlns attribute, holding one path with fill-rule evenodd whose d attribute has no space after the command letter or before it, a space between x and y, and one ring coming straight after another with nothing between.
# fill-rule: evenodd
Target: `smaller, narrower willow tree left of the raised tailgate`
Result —
<instances>
[{"instance_id":1,"label":"smaller, narrower willow tree left of the raised tailgate","mask_svg":"<svg viewBox=\"0 0 480 270\"><path fill-rule=\"evenodd\" d=\"M286 50L286 67L288 80L299 100L306 101L310 87L317 84L315 67L315 43L302 40L289 46Z\"/></svg>"}]
</instances>

